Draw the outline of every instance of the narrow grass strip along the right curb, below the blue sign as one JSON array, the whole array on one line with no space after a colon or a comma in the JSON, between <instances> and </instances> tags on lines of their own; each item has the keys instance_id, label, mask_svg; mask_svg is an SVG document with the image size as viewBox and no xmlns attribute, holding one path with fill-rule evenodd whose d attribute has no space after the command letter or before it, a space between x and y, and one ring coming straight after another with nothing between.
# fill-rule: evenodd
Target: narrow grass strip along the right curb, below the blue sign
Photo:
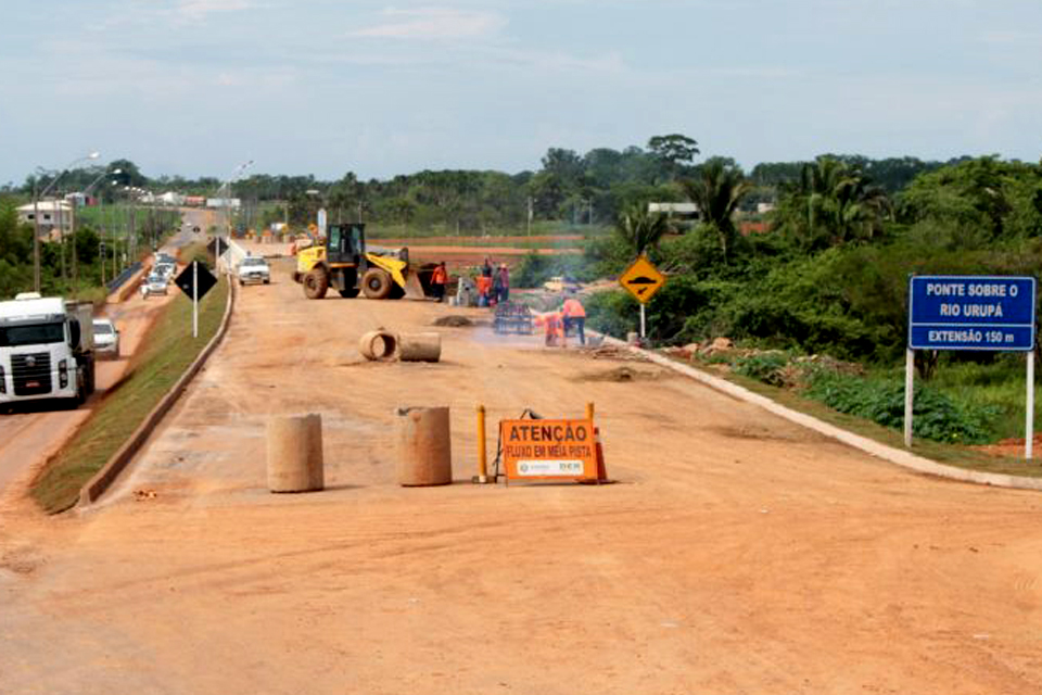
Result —
<instances>
[{"instance_id":1,"label":"narrow grass strip along the right curb, below the blue sign","mask_svg":"<svg viewBox=\"0 0 1042 695\"><path fill-rule=\"evenodd\" d=\"M767 386L755 379L742 377L734 372L722 372L715 369L710 369L706 365L699 364L698 362L688 363L687 361L683 359L678 359L678 362L687 364L696 369L701 369L702 371L712 374L713 376L723 377L727 381L744 387L753 393L764 395L786 407L792 408L799 413L805 413L806 415L811 415L824 422L840 427L849 432L853 432L854 434L860 434L894 448L904 450L904 435L898 430L889 429L852 415L839 413L816 401L802 397L798 392L790 389ZM943 367L941 369L943 369ZM938 370L938 374L940 374L940 369ZM1024 390L1024 372L1021 366L1019 381L1019 388L1021 391ZM1024 394L1021 394L1021 402L1022 400ZM1019 422L1020 429L1011 435L1024 437L1024 405L1020 406L1020 415L1017 421ZM1027 462L1024 459L1022 455L1019 458L1015 456L995 456L992 454L987 454L971 446L944 444L928 440L913 441L912 448L910 451L913 454L923 456L924 458L929 458L949 466L956 466L958 468L980 470L992 473L1005 473L1011 476L1025 476L1028 478L1042 478L1042 463L1040 463L1037 458L1032 462Z\"/></svg>"}]
</instances>

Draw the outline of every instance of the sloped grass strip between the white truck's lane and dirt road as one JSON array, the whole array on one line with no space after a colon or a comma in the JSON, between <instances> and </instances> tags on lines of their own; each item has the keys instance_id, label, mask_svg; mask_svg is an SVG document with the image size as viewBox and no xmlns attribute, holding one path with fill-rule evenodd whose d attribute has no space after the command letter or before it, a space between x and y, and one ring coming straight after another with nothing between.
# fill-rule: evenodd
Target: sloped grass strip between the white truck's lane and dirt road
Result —
<instances>
[{"instance_id":1,"label":"sloped grass strip between the white truck's lane and dirt road","mask_svg":"<svg viewBox=\"0 0 1042 695\"><path fill-rule=\"evenodd\" d=\"M50 514L76 504L79 489L144 420L217 332L228 296L221 279L200 302L199 338L191 338L192 303L178 293L147 331L148 344L131 359L114 390L94 405L82 427L48 463L31 494Z\"/></svg>"}]
</instances>

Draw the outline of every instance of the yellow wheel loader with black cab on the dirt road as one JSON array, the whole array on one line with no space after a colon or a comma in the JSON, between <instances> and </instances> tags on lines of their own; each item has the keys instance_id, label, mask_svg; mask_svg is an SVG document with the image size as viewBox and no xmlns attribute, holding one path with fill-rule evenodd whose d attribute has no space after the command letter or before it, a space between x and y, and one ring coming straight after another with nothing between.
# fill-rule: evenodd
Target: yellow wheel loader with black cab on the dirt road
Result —
<instances>
[{"instance_id":1,"label":"yellow wheel loader with black cab on the dirt road","mask_svg":"<svg viewBox=\"0 0 1042 695\"><path fill-rule=\"evenodd\" d=\"M293 279L304 286L312 300L326 296L332 287L341 296L370 300L425 299L424 280L430 286L430 268L409 265L408 249L376 249L366 245L366 226L361 223L329 225L325 244L297 251Z\"/></svg>"}]
</instances>

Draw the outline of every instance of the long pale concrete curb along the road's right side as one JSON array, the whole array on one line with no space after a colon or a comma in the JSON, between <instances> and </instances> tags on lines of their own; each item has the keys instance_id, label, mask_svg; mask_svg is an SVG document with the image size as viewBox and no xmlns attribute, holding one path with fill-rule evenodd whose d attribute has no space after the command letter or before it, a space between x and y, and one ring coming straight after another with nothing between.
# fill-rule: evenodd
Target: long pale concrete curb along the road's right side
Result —
<instances>
[{"instance_id":1,"label":"long pale concrete curb along the road's right side","mask_svg":"<svg viewBox=\"0 0 1042 695\"><path fill-rule=\"evenodd\" d=\"M890 462L897 466L901 466L902 468L907 468L910 470L928 476L937 476L938 478L957 480L961 482L973 482L982 485L993 485L995 488L1012 488L1015 490L1042 491L1042 479L1040 478L1026 478L1024 476L1008 476L1004 473L989 473L979 470L969 470L966 468L957 468L955 466L939 464L935 460L930 460L929 458L924 458L910 452L894 448L893 446L888 446L887 444L880 444L879 442L871 440L867 437L861 437L860 434L848 432L847 430L836 427L835 425L823 422L815 417L804 413L799 413L784 405L775 403L766 396L760 395L759 393L753 393L752 391L736 383L732 383L726 379L721 379L720 377L714 377L699 369L695 369L694 367L682 365L673 359L670 359L669 357L663 357L662 355L649 350L631 345L625 341L619 340L618 338L605 336L605 342L612 345L626 348L635 354L647 357L650 362L659 366L666 367L690 377L715 391L725 393L734 399L738 399L739 401L758 405L763 409L773 413L774 415L789 420L790 422L795 422L801 427L814 430L815 432L824 434L825 437L835 439L843 444L847 444L848 446L853 446L856 450L877 458Z\"/></svg>"}]
</instances>

